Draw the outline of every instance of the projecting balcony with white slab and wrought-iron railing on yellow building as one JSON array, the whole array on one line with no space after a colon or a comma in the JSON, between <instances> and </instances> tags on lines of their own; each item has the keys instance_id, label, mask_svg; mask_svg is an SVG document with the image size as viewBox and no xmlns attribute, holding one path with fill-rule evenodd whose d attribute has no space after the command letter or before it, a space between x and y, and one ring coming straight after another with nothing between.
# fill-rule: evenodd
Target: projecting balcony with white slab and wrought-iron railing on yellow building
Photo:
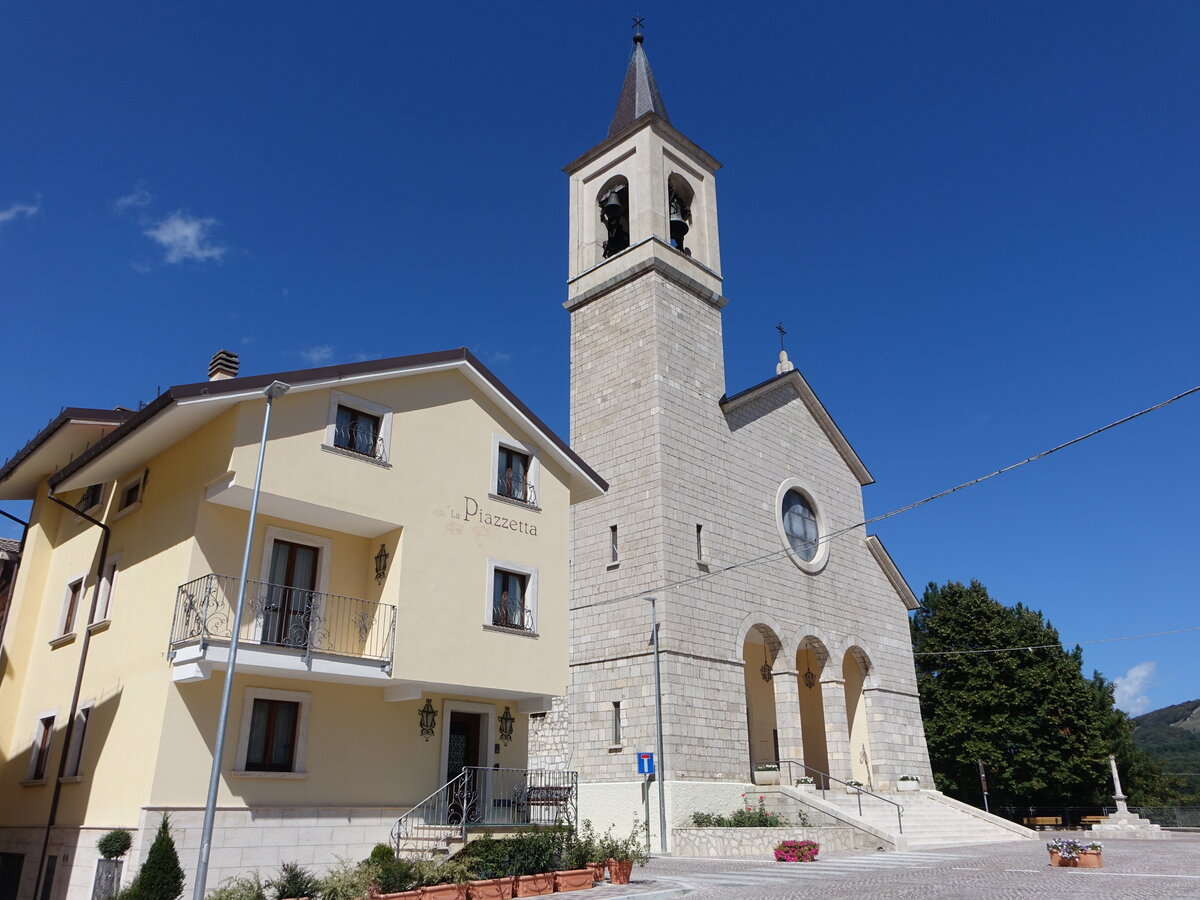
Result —
<instances>
[{"instance_id":1,"label":"projecting balcony with white slab and wrought-iron railing on yellow building","mask_svg":"<svg viewBox=\"0 0 1200 900\"><path fill-rule=\"evenodd\" d=\"M205 575L179 587L170 630L176 682L228 664L239 580ZM391 674L396 608L340 594L246 582L238 671L378 684Z\"/></svg>"}]
</instances>

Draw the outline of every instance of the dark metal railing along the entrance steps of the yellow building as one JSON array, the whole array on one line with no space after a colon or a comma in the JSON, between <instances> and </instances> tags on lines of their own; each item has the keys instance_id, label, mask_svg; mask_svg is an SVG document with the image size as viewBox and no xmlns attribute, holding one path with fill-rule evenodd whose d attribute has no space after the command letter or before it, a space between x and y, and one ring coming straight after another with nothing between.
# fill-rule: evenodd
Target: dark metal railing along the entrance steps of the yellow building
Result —
<instances>
[{"instance_id":1,"label":"dark metal railing along the entrance steps of the yellow building","mask_svg":"<svg viewBox=\"0 0 1200 900\"><path fill-rule=\"evenodd\" d=\"M397 854L433 856L474 827L578 824L576 772L468 766L396 820Z\"/></svg>"}]
</instances>

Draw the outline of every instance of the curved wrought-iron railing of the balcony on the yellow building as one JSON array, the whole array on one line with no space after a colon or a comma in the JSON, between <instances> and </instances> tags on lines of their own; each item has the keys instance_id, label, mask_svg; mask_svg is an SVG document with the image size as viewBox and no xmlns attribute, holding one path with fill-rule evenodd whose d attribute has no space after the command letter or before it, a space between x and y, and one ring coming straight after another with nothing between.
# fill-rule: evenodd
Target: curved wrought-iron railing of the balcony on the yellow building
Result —
<instances>
[{"instance_id":1,"label":"curved wrought-iron railing of the balcony on the yellow building","mask_svg":"<svg viewBox=\"0 0 1200 900\"><path fill-rule=\"evenodd\" d=\"M181 584L170 630L172 648L228 641L236 600L238 578L232 575L205 575ZM396 644L396 607L247 581L238 641L292 648L306 659L319 653L377 660L388 667Z\"/></svg>"}]
</instances>

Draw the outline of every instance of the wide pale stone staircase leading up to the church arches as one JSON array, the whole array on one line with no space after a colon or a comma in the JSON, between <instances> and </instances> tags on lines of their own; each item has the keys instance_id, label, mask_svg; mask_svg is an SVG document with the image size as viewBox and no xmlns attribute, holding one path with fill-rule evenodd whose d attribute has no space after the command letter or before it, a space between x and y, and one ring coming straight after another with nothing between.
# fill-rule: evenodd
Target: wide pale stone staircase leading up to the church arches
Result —
<instances>
[{"instance_id":1,"label":"wide pale stone staircase leading up to the church arches","mask_svg":"<svg viewBox=\"0 0 1200 900\"><path fill-rule=\"evenodd\" d=\"M842 790L821 792L792 787L758 788L767 809L794 817L803 810L814 824L833 822L853 824L864 832L866 842L875 840L887 850L988 844L1030 840L1037 834L983 810L953 800L937 791L910 791L888 794L904 806L904 832L896 820L896 808L876 797L863 794L862 815L858 798Z\"/></svg>"}]
</instances>

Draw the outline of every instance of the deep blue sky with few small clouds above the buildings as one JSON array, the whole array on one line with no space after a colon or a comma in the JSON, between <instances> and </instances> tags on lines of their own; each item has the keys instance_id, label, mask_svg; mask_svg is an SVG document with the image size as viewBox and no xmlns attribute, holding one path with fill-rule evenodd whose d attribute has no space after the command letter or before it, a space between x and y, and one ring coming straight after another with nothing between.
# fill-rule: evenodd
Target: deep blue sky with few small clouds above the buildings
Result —
<instances>
[{"instance_id":1,"label":"deep blue sky with few small clouds above the buildings","mask_svg":"<svg viewBox=\"0 0 1200 900\"><path fill-rule=\"evenodd\" d=\"M782 320L869 515L1200 383L1200 5L637 11L725 163L728 391ZM565 436L560 168L605 137L631 12L8 4L0 457L220 348L252 373L464 344ZM876 530L918 593L979 578L1068 641L1200 625L1198 437L1193 396ZM1198 648L1085 661L1141 712L1200 696Z\"/></svg>"}]
</instances>

